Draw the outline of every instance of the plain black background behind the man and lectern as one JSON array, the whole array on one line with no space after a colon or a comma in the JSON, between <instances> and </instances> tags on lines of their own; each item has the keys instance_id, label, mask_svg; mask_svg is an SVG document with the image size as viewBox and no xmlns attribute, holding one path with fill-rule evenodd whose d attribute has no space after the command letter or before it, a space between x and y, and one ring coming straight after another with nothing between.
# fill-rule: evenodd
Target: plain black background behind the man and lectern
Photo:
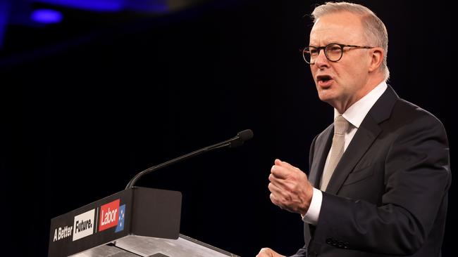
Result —
<instances>
[{"instance_id":1,"label":"plain black background behind the man and lectern","mask_svg":"<svg viewBox=\"0 0 458 257\"><path fill-rule=\"evenodd\" d=\"M0 51L2 237L47 256L49 220L115 192L143 169L243 129L217 150L137 185L182 192L181 233L240 256L292 254L302 220L271 204L275 158L307 171L332 122L299 49L318 1L207 1L163 15L63 9L58 25L11 25ZM356 1L390 37L389 84L447 129L452 168L456 22L446 1ZM452 183L442 256L454 256ZM428 206L425 206L428 208Z\"/></svg>"}]
</instances>

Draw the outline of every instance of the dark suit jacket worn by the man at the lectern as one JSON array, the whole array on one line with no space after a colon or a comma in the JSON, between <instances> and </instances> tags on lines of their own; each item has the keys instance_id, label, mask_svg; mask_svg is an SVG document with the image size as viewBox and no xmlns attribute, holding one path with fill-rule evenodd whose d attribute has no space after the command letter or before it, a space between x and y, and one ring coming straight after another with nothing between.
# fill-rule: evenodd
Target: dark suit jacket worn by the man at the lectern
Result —
<instances>
[{"instance_id":1,"label":"dark suit jacket worn by the man at the lectern","mask_svg":"<svg viewBox=\"0 0 458 257\"><path fill-rule=\"evenodd\" d=\"M311 145L315 187L332 137L333 125ZM440 256L450 182L441 122L388 86L335 168L318 224L305 225L295 257Z\"/></svg>"}]
</instances>

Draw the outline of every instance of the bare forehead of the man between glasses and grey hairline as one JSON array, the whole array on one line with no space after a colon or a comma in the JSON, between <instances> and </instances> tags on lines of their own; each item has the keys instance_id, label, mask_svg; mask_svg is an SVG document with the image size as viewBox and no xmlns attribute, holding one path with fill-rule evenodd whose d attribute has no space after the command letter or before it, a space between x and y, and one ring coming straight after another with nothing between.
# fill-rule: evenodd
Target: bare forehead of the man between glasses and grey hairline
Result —
<instances>
[{"instance_id":1,"label":"bare forehead of the man between glasses and grey hairline","mask_svg":"<svg viewBox=\"0 0 458 257\"><path fill-rule=\"evenodd\" d=\"M316 20L310 32L310 44L359 44L364 39L363 32L358 15L348 12L329 13Z\"/></svg>"}]
</instances>

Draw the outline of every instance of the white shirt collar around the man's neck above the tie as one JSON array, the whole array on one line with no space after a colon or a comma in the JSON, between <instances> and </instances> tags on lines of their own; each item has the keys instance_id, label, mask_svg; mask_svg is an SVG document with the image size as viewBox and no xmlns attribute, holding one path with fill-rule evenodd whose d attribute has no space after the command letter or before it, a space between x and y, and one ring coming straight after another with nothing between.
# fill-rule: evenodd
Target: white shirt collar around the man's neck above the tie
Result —
<instances>
[{"instance_id":1,"label":"white shirt collar around the man's neck above the tie","mask_svg":"<svg viewBox=\"0 0 458 257\"><path fill-rule=\"evenodd\" d=\"M366 117L369 110L377 102L378 98L383 95L386 88L388 88L385 81L378 84L375 88L372 89L367 95L364 95L363 98L359 99L356 103L350 106L342 116L347 119L347 121L359 129L361 122L363 122L364 117ZM334 119L339 115L337 109L334 109Z\"/></svg>"}]
</instances>

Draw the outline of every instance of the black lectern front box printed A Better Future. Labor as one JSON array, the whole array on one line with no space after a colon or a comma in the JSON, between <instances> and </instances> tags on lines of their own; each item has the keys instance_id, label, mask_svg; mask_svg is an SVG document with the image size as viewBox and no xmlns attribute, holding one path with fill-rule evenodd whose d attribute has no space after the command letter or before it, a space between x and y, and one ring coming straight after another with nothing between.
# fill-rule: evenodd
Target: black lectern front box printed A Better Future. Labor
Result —
<instances>
[{"instance_id":1,"label":"black lectern front box printed A Better Future. Labor","mask_svg":"<svg viewBox=\"0 0 458 257\"><path fill-rule=\"evenodd\" d=\"M178 238L181 193L123 190L51 219L49 257L71 256L128 235Z\"/></svg>"}]
</instances>

